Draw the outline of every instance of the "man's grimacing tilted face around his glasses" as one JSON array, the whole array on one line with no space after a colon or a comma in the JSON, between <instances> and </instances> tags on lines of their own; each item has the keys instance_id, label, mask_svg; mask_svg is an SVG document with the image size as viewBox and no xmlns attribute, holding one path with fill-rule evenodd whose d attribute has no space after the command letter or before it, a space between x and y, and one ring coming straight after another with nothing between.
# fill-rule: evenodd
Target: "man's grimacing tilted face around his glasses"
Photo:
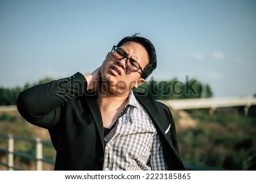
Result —
<instances>
[{"instance_id":1,"label":"man's grimacing tilted face around his glasses","mask_svg":"<svg viewBox=\"0 0 256 182\"><path fill-rule=\"evenodd\" d=\"M121 47L127 58L131 58L144 69L148 64L148 54L141 44L126 42ZM142 71L131 72L126 68L126 59L117 60L109 52L104 63L101 65L101 75L103 83L115 86L118 89L130 90L138 87L144 82Z\"/></svg>"}]
</instances>

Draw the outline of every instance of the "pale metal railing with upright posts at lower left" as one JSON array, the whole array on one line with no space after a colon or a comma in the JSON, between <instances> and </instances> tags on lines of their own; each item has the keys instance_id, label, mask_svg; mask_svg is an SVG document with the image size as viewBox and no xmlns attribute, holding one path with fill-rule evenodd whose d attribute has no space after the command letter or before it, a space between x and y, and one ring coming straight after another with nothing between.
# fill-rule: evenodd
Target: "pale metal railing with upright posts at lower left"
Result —
<instances>
[{"instance_id":1,"label":"pale metal railing with upright posts at lower left","mask_svg":"<svg viewBox=\"0 0 256 182\"><path fill-rule=\"evenodd\" d=\"M43 145L53 147L52 143L49 141L44 141L40 138L33 139L33 138L26 138L26 137L16 137L12 134L9 134L9 135L0 134L0 138L7 139L7 148L0 147L0 152L4 152L5 154L7 154L7 163L3 163L0 160L0 166L4 166L10 171L11 170L23 170L22 168L16 167L14 165L14 157L15 156L20 156L22 158L34 160L36 163L37 171L43 170L43 163L48 163L51 165L55 164L55 162L53 160L43 158ZM35 143L35 146L36 146L35 153L36 154L30 155L30 154L24 154L23 152L19 152L19 151L14 151L14 143L15 143L14 141L15 140L21 140L23 142Z\"/></svg>"}]
</instances>

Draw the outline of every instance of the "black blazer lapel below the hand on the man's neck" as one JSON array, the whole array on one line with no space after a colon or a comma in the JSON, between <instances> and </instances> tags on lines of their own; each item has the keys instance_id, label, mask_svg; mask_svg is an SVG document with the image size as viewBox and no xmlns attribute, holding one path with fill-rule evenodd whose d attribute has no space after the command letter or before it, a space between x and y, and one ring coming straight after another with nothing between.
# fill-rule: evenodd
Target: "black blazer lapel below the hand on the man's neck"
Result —
<instances>
[{"instance_id":1,"label":"black blazer lapel below the hand on the man's neck","mask_svg":"<svg viewBox=\"0 0 256 182\"><path fill-rule=\"evenodd\" d=\"M97 96L89 96L88 98L85 99L85 101L87 102L90 113L92 114L94 123L96 124L98 133L101 138L102 147L104 148L104 129L103 129L103 123L102 123L102 117L101 117L101 110L100 110L100 106L98 105Z\"/></svg>"}]
</instances>

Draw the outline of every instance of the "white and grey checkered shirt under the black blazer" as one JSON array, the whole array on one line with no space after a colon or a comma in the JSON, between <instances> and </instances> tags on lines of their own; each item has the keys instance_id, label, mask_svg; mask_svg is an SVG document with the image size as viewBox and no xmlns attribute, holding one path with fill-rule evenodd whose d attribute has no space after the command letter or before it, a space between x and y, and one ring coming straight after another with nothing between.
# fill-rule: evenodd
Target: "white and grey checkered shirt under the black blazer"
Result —
<instances>
[{"instance_id":1,"label":"white and grey checkered shirt under the black blazer","mask_svg":"<svg viewBox=\"0 0 256 182\"><path fill-rule=\"evenodd\" d=\"M106 141L104 170L167 170L162 143L154 123L133 92L127 113L118 119L113 137Z\"/></svg>"}]
</instances>

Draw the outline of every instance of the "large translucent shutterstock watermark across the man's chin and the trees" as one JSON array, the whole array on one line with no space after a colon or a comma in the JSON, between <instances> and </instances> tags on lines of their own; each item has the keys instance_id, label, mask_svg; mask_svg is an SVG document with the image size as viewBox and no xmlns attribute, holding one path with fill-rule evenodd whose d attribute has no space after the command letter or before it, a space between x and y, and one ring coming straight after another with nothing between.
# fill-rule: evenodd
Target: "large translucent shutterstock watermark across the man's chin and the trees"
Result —
<instances>
[{"instance_id":1,"label":"large translucent shutterstock watermark across the man's chin and the trees","mask_svg":"<svg viewBox=\"0 0 256 182\"><path fill-rule=\"evenodd\" d=\"M174 96L199 96L195 85L198 80L190 80L189 75L185 75L185 81L181 80L154 80L154 76L150 77L150 81L144 81L135 91L142 92L144 94L150 94L151 96L168 96L170 94ZM136 81L125 81L119 80L114 83L111 79L106 79L101 81L92 81L91 83L96 90L87 90L85 86L87 85L86 80L76 80L75 76L65 78L58 82L59 92L58 95L64 96L92 96L96 94L102 94L104 96L124 96L133 86L136 84Z\"/></svg>"}]
</instances>

